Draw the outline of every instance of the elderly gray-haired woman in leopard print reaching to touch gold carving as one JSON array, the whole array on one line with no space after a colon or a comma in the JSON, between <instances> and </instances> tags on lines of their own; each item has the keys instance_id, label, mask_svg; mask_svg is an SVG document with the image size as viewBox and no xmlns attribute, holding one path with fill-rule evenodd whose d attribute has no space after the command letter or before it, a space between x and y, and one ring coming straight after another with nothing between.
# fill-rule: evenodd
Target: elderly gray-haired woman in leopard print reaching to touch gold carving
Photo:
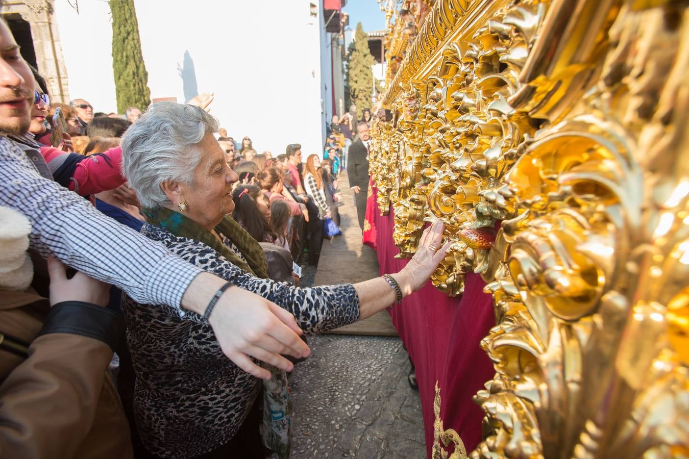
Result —
<instances>
[{"instance_id":1,"label":"elderly gray-haired woman in leopard print reaching to touch gold carving","mask_svg":"<svg viewBox=\"0 0 689 459\"><path fill-rule=\"evenodd\" d=\"M399 303L429 279L445 255L442 224L426 228L417 253L399 273L358 284L298 288L267 279L263 251L232 213L229 169L213 134L218 122L198 107L157 103L122 138L123 171L147 223L141 232L176 255L294 314L307 334L353 323ZM223 295L218 290L216 298ZM256 416L261 384L220 350L205 316L182 320L167 306L123 300L136 372L136 424L144 445L165 458L264 457ZM278 341L274 343L279 352ZM251 353L249 353L251 354ZM255 359L271 362L260 348ZM286 380L271 368L265 383L263 442L289 454Z\"/></svg>"}]
</instances>

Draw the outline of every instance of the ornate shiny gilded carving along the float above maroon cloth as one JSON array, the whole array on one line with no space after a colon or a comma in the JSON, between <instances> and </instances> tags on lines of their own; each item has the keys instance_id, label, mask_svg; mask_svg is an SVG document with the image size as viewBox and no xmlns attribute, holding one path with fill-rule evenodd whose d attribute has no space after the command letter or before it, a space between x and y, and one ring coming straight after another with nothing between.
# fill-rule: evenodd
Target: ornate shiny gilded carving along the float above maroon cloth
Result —
<instances>
[{"instance_id":1,"label":"ornate shiny gilded carving along the float above maroon cloth","mask_svg":"<svg viewBox=\"0 0 689 459\"><path fill-rule=\"evenodd\" d=\"M689 3L455 3L395 75L371 167L401 255L440 219L433 284L471 270L495 299L470 456L689 456Z\"/></svg>"}]
</instances>

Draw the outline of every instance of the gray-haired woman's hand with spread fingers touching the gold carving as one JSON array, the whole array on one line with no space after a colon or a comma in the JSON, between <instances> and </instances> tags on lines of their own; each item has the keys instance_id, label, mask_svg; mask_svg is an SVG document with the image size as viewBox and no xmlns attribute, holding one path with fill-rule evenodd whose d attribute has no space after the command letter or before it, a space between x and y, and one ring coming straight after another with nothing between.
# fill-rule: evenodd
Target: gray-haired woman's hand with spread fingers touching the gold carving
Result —
<instances>
[{"instance_id":1,"label":"gray-haired woman's hand with spread fingers touching the gold carving","mask_svg":"<svg viewBox=\"0 0 689 459\"><path fill-rule=\"evenodd\" d=\"M435 268L438 268L438 264L445 257L447 249L450 248L450 242L441 246L443 228L444 225L440 220L435 220L431 226L426 228L421 235L416 253L409 260L407 266L404 266L400 271L400 274L404 273L407 276L414 292L426 284Z\"/></svg>"}]
</instances>

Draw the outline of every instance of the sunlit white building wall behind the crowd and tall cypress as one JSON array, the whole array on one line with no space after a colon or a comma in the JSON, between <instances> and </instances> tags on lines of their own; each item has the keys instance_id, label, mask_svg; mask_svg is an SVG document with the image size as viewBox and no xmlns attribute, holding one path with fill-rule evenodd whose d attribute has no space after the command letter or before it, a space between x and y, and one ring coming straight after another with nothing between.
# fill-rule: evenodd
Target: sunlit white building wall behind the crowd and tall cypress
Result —
<instances>
[{"instance_id":1,"label":"sunlit white building wall behind the crowd and tall cypress","mask_svg":"<svg viewBox=\"0 0 689 459\"><path fill-rule=\"evenodd\" d=\"M192 76L199 93L214 92L211 114L235 140L249 136L259 153L284 153L294 142L305 157L321 153L331 67L320 0L136 0L135 6L152 98L185 102L185 70L187 95ZM107 1L80 1L77 14L56 0L55 9L70 97L85 98L95 111L116 111Z\"/></svg>"}]
</instances>

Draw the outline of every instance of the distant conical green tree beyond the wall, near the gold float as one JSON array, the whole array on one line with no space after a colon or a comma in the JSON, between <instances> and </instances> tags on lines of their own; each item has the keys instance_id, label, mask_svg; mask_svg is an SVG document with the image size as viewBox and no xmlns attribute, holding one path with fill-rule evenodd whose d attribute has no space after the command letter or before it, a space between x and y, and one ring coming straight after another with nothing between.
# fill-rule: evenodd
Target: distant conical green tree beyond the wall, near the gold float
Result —
<instances>
[{"instance_id":1,"label":"distant conical green tree beyond the wall, near the gold float","mask_svg":"<svg viewBox=\"0 0 689 459\"><path fill-rule=\"evenodd\" d=\"M349 98L351 103L356 105L358 113L363 113L364 109L371 108L371 93L373 92L373 70L371 70L371 66L375 63L376 58L371 56L369 50L369 36L364 32L361 23L358 23L347 61Z\"/></svg>"}]
</instances>

